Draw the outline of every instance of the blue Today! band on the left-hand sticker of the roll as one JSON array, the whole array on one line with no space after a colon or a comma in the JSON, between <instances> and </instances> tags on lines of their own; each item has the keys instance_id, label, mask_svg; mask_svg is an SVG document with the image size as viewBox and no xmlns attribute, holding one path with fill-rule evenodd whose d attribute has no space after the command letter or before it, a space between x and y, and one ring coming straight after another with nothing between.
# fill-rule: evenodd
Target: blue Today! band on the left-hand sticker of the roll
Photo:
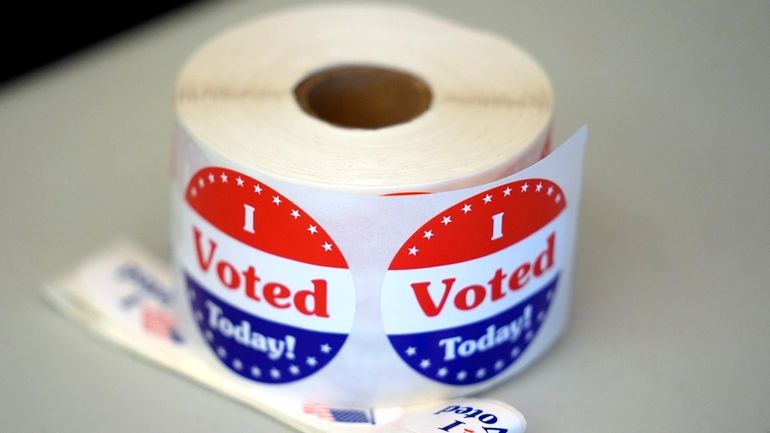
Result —
<instances>
[{"instance_id":1,"label":"blue Today! band on the left-hand sticker of the roll","mask_svg":"<svg viewBox=\"0 0 770 433\"><path fill-rule=\"evenodd\" d=\"M317 332L246 313L185 274L192 312L215 356L249 380L288 383L308 377L342 348L346 334Z\"/></svg>"}]
</instances>

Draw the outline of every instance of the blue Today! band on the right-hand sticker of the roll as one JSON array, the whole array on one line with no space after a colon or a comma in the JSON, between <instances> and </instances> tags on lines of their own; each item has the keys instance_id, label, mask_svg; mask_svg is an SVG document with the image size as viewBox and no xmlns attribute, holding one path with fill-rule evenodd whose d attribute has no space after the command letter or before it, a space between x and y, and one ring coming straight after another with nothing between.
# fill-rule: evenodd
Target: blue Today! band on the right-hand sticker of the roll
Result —
<instances>
[{"instance_id":1,"label":"blue Today! band on the right-hand sticker of the roll","mask_svg":"<svg viewBox=\"0 0 770 433\"><path fill-rule=\"evenodd\" d=\"M545 321L559 275L529 298L468 325L391 334L398 355L421 375L449 385L470 385L501 374L527 350Z\"/></svg>"}]
</instances>

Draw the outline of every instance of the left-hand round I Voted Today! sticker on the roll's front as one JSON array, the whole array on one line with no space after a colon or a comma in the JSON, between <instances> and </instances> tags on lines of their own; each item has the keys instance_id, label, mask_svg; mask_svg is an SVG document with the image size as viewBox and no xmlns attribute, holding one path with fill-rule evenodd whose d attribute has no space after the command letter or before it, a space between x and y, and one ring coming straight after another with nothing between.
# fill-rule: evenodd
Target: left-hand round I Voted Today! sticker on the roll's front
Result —
<instances>
[{"instance_id":1,"label":"left-hand round I Voted Today! sticker on the roll's front","mask_svg":"<svg viewBox=\"0 0 770 433\"><path fill-rule=\"evenodd\" d=\"M308 377L353 323L353 280L329 234L269 186L208 167L181 212L183 267L198 328L219 361L262 383Z\"/></svg>"}]
</instances>

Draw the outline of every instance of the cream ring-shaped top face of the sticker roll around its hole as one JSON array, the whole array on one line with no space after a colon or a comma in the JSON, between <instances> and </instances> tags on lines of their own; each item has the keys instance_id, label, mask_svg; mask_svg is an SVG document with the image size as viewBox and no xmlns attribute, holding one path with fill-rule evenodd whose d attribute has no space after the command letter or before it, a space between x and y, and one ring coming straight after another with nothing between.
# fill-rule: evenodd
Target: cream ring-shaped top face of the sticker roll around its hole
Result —
<instances>
[{"instance_id":1,"label":"cream ring-shaped top face of the sticker roll around its hole","mask_svg":"<svg viewBox=\"0 0 770 433\"><path fill-rule=\"evenodd\" d=\"M294 88L339 65L402 70L430 108L379 129L309 116ZM425 13L320 6L268 15L199 49L177 86L180 124L211 152L297 184L355 193L445 191L537 160L552 116L542 68L520 48Z\"/></svg>"}]
</instances>

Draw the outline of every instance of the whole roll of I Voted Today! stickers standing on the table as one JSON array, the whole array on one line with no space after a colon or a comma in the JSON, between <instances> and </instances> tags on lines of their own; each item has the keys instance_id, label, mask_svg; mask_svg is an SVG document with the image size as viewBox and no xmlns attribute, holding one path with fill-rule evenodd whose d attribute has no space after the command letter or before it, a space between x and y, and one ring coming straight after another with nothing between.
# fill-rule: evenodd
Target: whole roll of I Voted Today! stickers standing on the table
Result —
<instances>
[{"instance_id":1,"label":"whole roll of I Voted Today! stickers standing on the table","mask_svg":"<svg viewBox=\"0 0 770 433\"><path fill-rule=\"evenodd\" d=\"M255 394L467 395L564 329L582 145L535 164L551 87L510 42L400 7L289 10L202 46L176 101L179 332Z\"/></svg>"}]
</instances>

